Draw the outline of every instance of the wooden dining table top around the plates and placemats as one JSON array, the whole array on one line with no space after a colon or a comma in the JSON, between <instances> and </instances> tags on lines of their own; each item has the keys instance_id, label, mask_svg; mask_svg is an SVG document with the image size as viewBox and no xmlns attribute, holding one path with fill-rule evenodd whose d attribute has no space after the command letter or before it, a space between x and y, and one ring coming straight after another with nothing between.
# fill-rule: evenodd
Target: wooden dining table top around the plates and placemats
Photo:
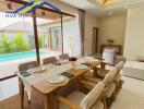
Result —
<instances>
[{"instance_id":1,"label":"wooden dining table top around the plates and placemats","mask_svg":"<svg viewBox=\"0 0 144 109\"><path fill-rule=\"evenodd\" d=\"M79 59L77 63L83 63L85 62L86 59ZM101 60L96 60L96 59L92 59L89 61L91 64L95 64L95 65L99 65L103 61ZM76 62L75 62L76 63ZM38 90L40 94L46 95L46 94L50 94L52 92L55 92L56 89L58 89L60 86L57 85L49 85L47 83L47 76L50 75L55 75L55 74L61 74L62 72L69 72L74 74L73 77L69 78L69 82L77 78L79 76L83 75L84 73L86 73L87 71L91 70L91 66L87 66L86 69L74 69L74 65L70 62L67 64L62 64L62 65L44 65L47 68L47 70L45 72L41 72L39 74L34 74L29 77L23 77L22 75L19 74L20 78L29 84L34 89ZM68 83L69 83L68 82ZM67 84L65 84L67 85Z\"/></svg>"}]
</instances>

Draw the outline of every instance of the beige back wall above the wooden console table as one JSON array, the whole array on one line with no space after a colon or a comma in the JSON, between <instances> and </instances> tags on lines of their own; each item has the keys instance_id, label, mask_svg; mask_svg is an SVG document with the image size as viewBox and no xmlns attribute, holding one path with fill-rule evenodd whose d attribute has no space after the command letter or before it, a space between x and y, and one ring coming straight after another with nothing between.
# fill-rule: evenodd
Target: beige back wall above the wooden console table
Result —
<instances>
[{"instance_id":1,"label":"beige back wall above the wooden console table","mask_svg":"<svg viewBox=\"0 0 144 109\"><path fill-rule=\"evenodd\" d=\"M110 16L98 19L99 35L98 35L98 50L100 45L108 44L108 39L113 39L116 45L124 46L127 13L118 13ZM123 49L122 49L123 52Z\"/></svg>"}]
</instances>

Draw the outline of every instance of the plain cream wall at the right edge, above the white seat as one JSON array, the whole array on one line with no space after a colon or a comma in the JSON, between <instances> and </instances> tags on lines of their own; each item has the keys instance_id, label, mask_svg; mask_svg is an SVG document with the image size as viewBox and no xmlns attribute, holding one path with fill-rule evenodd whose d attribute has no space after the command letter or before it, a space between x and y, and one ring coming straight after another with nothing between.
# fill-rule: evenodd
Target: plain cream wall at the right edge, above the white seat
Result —
<instances>
[{"instance_id":1,"label":"plain cream wall at the right edge, above the white seat","mask_svg":"<svg viewBox=\"0 0 144 109\"><path fill-rule=\"evenodd\" d=\"M130 7L128 10L124 56L136 60L144 55L144 3Z\"/></svg>"}]
</instances>

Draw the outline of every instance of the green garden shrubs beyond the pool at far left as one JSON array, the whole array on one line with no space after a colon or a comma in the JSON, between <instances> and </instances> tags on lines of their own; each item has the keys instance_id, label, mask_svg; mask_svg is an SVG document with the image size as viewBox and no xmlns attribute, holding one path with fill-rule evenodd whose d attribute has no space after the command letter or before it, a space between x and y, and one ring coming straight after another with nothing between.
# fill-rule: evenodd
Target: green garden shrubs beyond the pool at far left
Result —
<instances>
[{"instance_id":1,"label":"green garden shrubs beyond the pool at far left","mask_svg":"<svg viewBox=\"0 0 144 109\"><path fill-rule=\"evenodd\" d=\"M17 32L17 34L12 38L9 38L5 34L1 35L0 55L31 50L32 47L25 40L25 37L27 36L22 32Z\"/></svg>"}]
</instances>

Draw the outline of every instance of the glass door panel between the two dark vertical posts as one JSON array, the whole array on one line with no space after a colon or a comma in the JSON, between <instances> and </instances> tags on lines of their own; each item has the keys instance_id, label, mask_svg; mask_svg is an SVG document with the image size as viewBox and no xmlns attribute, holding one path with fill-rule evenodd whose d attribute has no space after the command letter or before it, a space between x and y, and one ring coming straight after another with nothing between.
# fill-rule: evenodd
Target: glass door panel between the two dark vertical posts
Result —
<instances>
[{"instance_id":1,"label":"glass door panel between the two dark vertical posts","mask_svg":"<svg viewBox=\"0 0 144 109\"><path fill-rule=\"evenodd\" d=\"M60 14L38 9L36 11L40 61L62 53Z\"/></svg>"}]
</instances>

